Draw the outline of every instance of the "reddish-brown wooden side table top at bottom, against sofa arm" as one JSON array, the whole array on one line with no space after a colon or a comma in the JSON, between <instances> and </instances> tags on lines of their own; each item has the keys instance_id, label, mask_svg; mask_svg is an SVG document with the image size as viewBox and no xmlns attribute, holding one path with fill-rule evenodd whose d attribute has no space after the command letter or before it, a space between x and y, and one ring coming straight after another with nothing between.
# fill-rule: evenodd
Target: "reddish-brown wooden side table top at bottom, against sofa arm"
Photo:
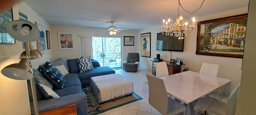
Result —
<instances>
[{"instance_id":1,"label":"reddish-brown wooden side table top at bottom, against sofa arm","mask_svg":"<svg viewBox=\"0 0 256 115\"><path fill-rule=\"evenodd\" d=\"M50 111L44 111L39 113L39 115L77 115L76 105L68 105L59 109L53 109Z\"/></svg>"}]
</instances>

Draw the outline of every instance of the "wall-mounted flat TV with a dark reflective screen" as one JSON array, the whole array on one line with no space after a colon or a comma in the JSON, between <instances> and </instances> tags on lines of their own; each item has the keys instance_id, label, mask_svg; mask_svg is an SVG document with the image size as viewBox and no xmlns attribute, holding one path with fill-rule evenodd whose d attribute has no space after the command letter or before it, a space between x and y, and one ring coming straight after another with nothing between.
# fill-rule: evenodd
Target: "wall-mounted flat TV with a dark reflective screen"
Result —
<instances>
[{"instance_id":1,"label":"wall-mounted flat TV with a dark reflective screen","mask_svg":"<svg viewBox=\"0 0 256 115\"><path fill-rule=\"evenodd\" d=\"M156 50L183 52L184 39L175 36L166 36L165 33L157 33Z\"/></svg>"}]
</instances>

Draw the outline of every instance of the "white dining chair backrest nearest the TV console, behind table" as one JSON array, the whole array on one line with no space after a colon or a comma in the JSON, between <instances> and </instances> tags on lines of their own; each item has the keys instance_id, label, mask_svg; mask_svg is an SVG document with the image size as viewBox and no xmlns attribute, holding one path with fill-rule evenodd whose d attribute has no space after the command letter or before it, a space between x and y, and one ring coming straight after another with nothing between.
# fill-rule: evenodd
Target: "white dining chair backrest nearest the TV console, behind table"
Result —
<instances>
[{"instance_id":1,"label":"white dining chair backrest nearest the TV console, behind table","mask_svg":"<svg viewBox=\"0 0 256 115\"><path fill-rule=\"evenodd\" d=\"M156 64L156 77L164 77L169 75L166 62L157 62Z\"/></svg>"}]
</instances>

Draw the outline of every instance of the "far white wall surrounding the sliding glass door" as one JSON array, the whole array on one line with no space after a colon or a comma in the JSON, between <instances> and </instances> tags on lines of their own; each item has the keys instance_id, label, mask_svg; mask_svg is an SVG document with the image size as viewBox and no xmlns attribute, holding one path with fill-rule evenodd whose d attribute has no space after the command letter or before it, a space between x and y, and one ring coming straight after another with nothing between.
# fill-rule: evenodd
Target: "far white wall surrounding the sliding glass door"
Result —
<instances>
[{"instance_id":1,"label":"far white wall surrounding the sliding glass door","mask_svg":"<svg viewBox=\"0 0 256 115\"><path fill-rule=\"evenodd\" d=\"M98 30L97 28L82 28L82 27L71 27L71 26L57 26L57 25L51 25L51 44L53 44L52 51L52 61L56 60L58 57L63 57L65 59L74 59L81 56L81 48L80 48L80 37L78 35L85 35L85 36L94 36L97 32L102 32L102 30ZM74 50L59 50L59 43L58 43L58 32L73 32L74 34ZM121 31L114 35L113 37L121 37L124 36L135 36L135 40L139 39L136 37L136 31ZM108 36L111 37L111 36ZM122 44L123 39L122 39ZM135 44L134 46L124 46L122 45L123 49L123 59L126 59L128 52L135 52L136 46L138 44Z\"/></svg>"}]
</instances>

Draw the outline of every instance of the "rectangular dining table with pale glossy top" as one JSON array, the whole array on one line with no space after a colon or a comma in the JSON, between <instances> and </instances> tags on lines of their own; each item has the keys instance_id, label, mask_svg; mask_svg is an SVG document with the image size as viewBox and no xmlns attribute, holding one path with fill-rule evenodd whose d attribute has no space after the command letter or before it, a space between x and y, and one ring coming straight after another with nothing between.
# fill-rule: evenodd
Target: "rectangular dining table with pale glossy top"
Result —
<instances>
[{"instance_id":1,"label":"rectangular dining table with pale glossy top","mask_svg":"<svg viewBox=\"0 0 256 115\"><path fill-rule=\"evenodd\" d=\"M185 71L160 78L164 81L168 95L185 103L184 115L200 115L202 113L196 108L198 99L209 96L220 101L228 97L233 89L232 80L194 71ZM145 84L144 87L148 87L148 84Z\"/></svg>"}]
</instances>

